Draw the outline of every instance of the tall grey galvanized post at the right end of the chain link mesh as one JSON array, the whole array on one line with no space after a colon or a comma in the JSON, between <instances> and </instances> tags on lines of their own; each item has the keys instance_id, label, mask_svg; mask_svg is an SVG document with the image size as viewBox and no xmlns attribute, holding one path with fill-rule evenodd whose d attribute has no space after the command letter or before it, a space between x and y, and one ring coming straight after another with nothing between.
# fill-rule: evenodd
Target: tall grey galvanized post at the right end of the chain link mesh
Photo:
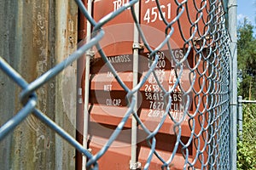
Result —
<instances>
[{"instance_id":1,"label":"tall grey galvanized post at the right end of the chain link mesh","mask_svg":"<svg viewBox=\"0 0 256 170\"><path fill-rule=\"evenodd\" d=\"M230 169L236 170L236 136L237 136L237 0L229 0L230 32Z\"/></svg>"}]
</instances>

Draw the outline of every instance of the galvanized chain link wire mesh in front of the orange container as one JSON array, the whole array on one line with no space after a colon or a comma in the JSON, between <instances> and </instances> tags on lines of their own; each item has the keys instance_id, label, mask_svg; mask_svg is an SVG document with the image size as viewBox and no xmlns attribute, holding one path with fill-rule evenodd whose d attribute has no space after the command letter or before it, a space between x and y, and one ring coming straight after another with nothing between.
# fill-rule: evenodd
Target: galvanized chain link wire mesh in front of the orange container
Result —
<instances>
[{"instance_id":1,"label":"galvanized chain link wire mesh in front of the orange container","mask_svg":"<svg viewBox=\"0 0 256 170\"><path fill-rule=\"evenodd\" d=\"M147 143L150 148L147 162L144 165L144 169L150 167L152 157L155 155L162 162L162 169L170 169L173 164L174 157L177 154L178 147L182 149L182 155L184 159L183 169L230 169L230 111L229 111L229 59L230 59L230 46L229 35L225 28L224 9L222 1L220 0L201 0L193 1L174 1L177 4L177 15L170 20L166 20L165 14L161 8L161 1L155 0L155 5L158 8L162 22L166 25L165 34L166 38L159 44L158 47L152 48L147 40L147 36L144 35L143 29L137 20L137 14L134 9L136 3L140 3L138 0L131 0L125 3L122 7L113 11L112 13L104 16L101 20L96 22L93 17L88 13L84 7L82 1L76 0L79 6L79 10L84 14L86 20L88 20L93 26L92 36L90 41L85 42L78 50L71 54L67 59L63 60L60 64L55 65L49 71L46 71L44 75L38 77L31 83L26 82L20 74L16 72L8 63L0 58L0 68L10 77L16 84L22 88L20 93L20 103L24 105L14 117L8 122L4 123L0 127L0 141L6 137L8 133L11 133L20 122L24 121L30 114L37 116L39 120L44 122L47 126L52 128L55 133L58 133L68 143L72 144L76 150L79 150L88 161L86 167L89 169L98 169L98 161L104 156L108 148L113 144L113 141L117 139L119 133L125 126L128 118L132 115L136 118L137 124L143 128L143 131L147 133ZM191 6L192 4L192 6ZM108 60L108 57L102 50L100 41L104 37L104 29L102 26L107 24L110 20L113 20L116 16L123 13L127 8L131 8L131 15L134 23L137 26L137 31L142 39L143 45L149 51L149 69L145 76L137 83L135 88L128 88L125 85L124 80L119 77L115 68ZM194 8L196 17L191 17L189 14L189 8ZM183 34L183 24L181 21L182 16L186 16L189 20L189 37ZM177 24L177 29L174 29L174 25ZM201 27L202 26L202 27ZM179 33L183 41L183 59L177 60L173 55L172 39L174 33ZM172 88L166 88L163 86L157 73L156 65L159 61L159 52L161 48L167 46L171 59L175 63L175 78L177 81L173 83ZM116 129L108 139L108 142L99 150L95 155L92 155L82 144L76 139L73 139L67 132L59 127L55 122L49 119L42 111L36 108L37 95L35 91L42 87L50 79L54 78L61 71L63 71L67 65L73 63L76 59L79 59L90 48L96 47L97 52L101 55L103 61L108 65L109 70L112 72L113 77L119 82L119 85L125 90L126 101L128 102L128 110L125 116L119 122ZM193 52L194 65L189 64L189 54ZM182 77L185 70L189 71L189 88L183 88ZM136 105L137 91L143 87L143 84L148 81L149 78L154 77L156 83L159 85L162 93L164 94L165 109L164 114L160 119L160 122L154 130L150 131L148 127L137 115L137 111L134 111ZM183 116L177 120L171 113L171 105L173 102L172 94L179 88L182 94L183 102ZM75 89L74 89L75 90ZM190 105L195 108L190 111ZM185 119L188 119L185 122ZM160 132L160 128L164 125L166 119L171 119L173 122L173 132L176 136L175 146L170 152L169 158L166 160L161 157L160 153L155 149L157 139L155 135ZM188 123L190 129L189 139L184 142L182 138L183 123ZM191 158L189 157L189 146L195 147L195 154Z\"/></svg>"}]
</instances>

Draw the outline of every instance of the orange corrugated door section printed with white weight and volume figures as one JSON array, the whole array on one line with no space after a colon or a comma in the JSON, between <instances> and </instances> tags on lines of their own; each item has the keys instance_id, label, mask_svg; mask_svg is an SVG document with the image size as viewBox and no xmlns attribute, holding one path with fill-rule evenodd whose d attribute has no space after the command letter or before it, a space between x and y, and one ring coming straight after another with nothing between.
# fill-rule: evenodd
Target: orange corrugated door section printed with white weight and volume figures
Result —
<instances>
[{"instance_id":1,"label":"orange corrugated door section printed with white weight and volume figures","mask_svg":"<svg viewBox=\"0 0 256 170\"><path fill-rule=\"evenodd\" d=\"M172 50L172 55L177 59L181 60L184 58L183 49L177 48ZM189 117L186 115L186 111L192 112L192 97L193 94L190 92L188 94L184 94L187 92L190 87L189 82L189 67L192 67L193 62L193 52L189 52L188 58L186 59L187 65L183 64L183 71L180 74L179 78L177 75L181 70L175 67L175 62L172 59L172 55L170 51L161 51L158 52L160 58L158 60L157 67L154 69L157 78L160 80L160 84L167 90L172 90L172 104L169 109L169 112L172 116L172 119L175 122L182 122L180 124L181 128L181 141L186 144L189 141L189 137L191 136L191 131L189 128ZM148 62L143 62L143 60L148 59L148 53L142 54L142 59L140 60L141 72L143 72L142 77L145 75L146 71L148 71ZM173 86L176 82L179 82L175 88ZM164 93L160 89L160 85L155 81L153 74L148 77L147 82L140 89L142 94L142 105L140 109L140 118L148 129L153 132L154 129L159 125L161 119L163 118L166 110L166 105L164 103ZM186 101L186 97L189 96L189 101ZM189 103L188 109L186 109L186 104ZM170 116L166 117L166 120L163 126L160 128L159 133L156 134L156 151L161 156L161 158L165 161L173 155L172 160L172 168L174 169L183 169L184 167L184 158L183 158L183 150L182 144L178 144L177 151L172 153L175 149L175 144L177 142L177 131L174 132L175 122L171 119ZM139 131L141 136L144 136L145 133L142 132L142 128ZM177 128L176 128L177 130ZM147 157L150 151L148 144L146 144L145 140L139 141L138 144L138 159L142 162L143 166L147 161ZM189 160L191 161L193 157L193 149L192 144L189 144L187 147L189 150ZM159 158L153 156L151 164L149 166L150 169L160 169L163 163Z\"/></svg>"}]
</instances>

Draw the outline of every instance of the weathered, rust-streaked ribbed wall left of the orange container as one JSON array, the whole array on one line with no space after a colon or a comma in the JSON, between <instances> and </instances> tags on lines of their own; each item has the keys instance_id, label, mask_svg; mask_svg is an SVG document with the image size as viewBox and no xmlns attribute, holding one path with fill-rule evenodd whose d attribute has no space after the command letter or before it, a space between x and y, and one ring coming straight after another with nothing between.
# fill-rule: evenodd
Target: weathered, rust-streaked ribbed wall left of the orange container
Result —
<instances>
[{"instance_id":1,"label":"weathered, rust-streaked ribbed wall left of the orange container","mask_svg":"<svg viewBox=\"0 0 256 170\"><path fill-rule=\"evenodd\" d=\"M73 1L0 0L0 4L0 56L27 82L76 49L77 6ZM20 91L0 71L0 126L22 108ZM76 65L69 65L37 94L38 109L75 137ZM74 169L74 158L73 147L34 116L0 142L0 169Z\"/></svg>"}]
</instances>

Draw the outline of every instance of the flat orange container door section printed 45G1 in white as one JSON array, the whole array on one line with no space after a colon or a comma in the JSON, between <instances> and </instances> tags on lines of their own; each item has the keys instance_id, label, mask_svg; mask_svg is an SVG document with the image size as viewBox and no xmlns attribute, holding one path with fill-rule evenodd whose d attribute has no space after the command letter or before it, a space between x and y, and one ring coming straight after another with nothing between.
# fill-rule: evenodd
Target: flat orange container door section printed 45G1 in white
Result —
<instances>
[{"instance_id":1,"label":"flat orange container door section printed 45G1 in white","mask_svg":"<svg viewBox=\"0 0 256 170\"><path fill-rule=\"evenodd\" d=\"M189 6L188 10L182 5L179 7L174 1L161 1L160 7L167 22L165 23L162 20L155 1L142 1L140 10L141 26L143 33L148 40L148 44L152 48L158 47L168 34L172 35L169 39L172 48L183 48L183 38L189 39L191 36L191 23L189 22L189 18L191 20L196 20L197 13L193 1L188 1L187 4ZM200 7L200 2L197 2L197 5ZM178 13L177 10L179 11ZM178 14L181 14L181 16L177 17ZM179 23L173 22L176 17L179 19ZM168 30L166 30L166 24L170 24ZM182 32L182 34L180 32ZM186 46L184 46L184 48L186 48ZM167 45L161 50L166 49Z\"/></svg>"}]
</instances>

